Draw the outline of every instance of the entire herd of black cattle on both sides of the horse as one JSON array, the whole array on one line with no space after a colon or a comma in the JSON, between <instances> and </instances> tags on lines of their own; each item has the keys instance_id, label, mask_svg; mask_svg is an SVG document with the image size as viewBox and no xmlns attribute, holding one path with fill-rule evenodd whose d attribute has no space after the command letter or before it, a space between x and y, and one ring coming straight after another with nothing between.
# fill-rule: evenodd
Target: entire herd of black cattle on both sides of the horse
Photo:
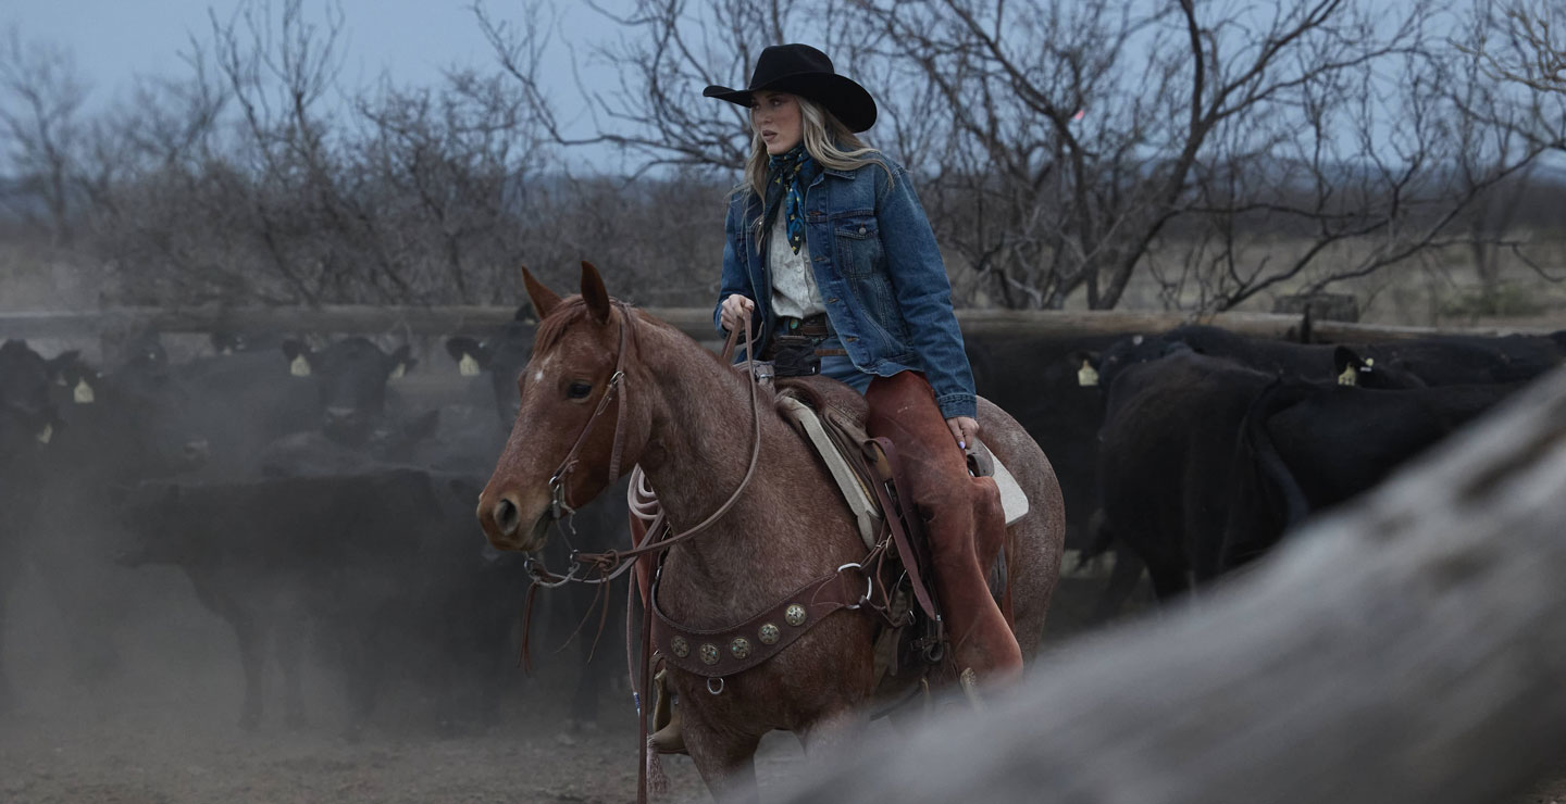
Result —
<instances>
[{"instance_id":1,"label":"entire herd of black cattle on both sides of the horse","mask_svg":"<svg viewBox=\"0 0 1566 804\"><path fill-rule=\"evenodd\" d=\"M91 684L125 662L122 579L169 565L188 580L180 593L233 630L241 727L315 720L307 660L346 702L346 720L312 726L357 734L409 684L435 693L421 713L443 727L490 723L518 695L528 577L518 557L485 546L473 502L515 416L532 332L523 310L489 338L448 339L442 371L471 399L445 405L401 389L409 347L366 338L213 336L174 361L141 336L113 366L6 341L0 637L28 576L50 591L72 673ZM1143 569L1168 601L1242 568L1563 355L1566 332L1292 344L1187 325L969 339L979 391L1055 465L1068 546L1117 557L1099 616ZM572 530L547 560L623 544L623 494L604 494ZM548 634L586 635L570 705L584 723L625 668L617 626L595 605L612 616L625 602L556 590L534 616ZM611 637L592 651L600 627ZM0 718L28 695L5 676L8 651L0 643Z\"/></svg>"}]
</instances>

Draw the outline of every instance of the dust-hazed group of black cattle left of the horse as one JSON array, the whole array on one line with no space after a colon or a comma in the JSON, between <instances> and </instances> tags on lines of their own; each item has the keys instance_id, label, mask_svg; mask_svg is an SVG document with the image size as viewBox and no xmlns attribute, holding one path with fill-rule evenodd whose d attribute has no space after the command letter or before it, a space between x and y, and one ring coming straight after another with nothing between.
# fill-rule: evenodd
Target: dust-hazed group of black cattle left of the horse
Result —
<instances>
[{"instance_id":1,"label":"dust-hazed group of black cattle left of the horse","mask_svg":"<svg viewBox=\"0 0 1566 804\"><path fill-rule=\"evenodd\" d=\"M6 341L0 635L8 598L33 582L58 608L72 676L92 685L122 669L125 574L166 565L180 572L160 577L233 632L244 729L277 720L354 735L413 698L404 723L493 723L525 687L529 580L520 557L485 544L473 504L511 427L531 341L523 321L482 343L453 338L442 368L471 399L438 407L399 391L417 363L406 346L388 354L357 336L316 349L215 336L185 361L139 336L110 368ZM485 369L493 388L457 383ZM606 497L572 522L575 547L625 538L623 499ZM567 549L548 558L564 562ZM584 619L597 632L603 607L617 612L592 593L543 596L534 641L550 649L537 652L553 654ZM556 662L570 665L570 716L594 723L625 665L601 644L587 662L592 640L578 643ZM0 644L0 718L28 695L5 676L8 651ZM321 707L307 701L305 668L324 669L346 715L312 718Z\"/></svg>"}]
</instances>

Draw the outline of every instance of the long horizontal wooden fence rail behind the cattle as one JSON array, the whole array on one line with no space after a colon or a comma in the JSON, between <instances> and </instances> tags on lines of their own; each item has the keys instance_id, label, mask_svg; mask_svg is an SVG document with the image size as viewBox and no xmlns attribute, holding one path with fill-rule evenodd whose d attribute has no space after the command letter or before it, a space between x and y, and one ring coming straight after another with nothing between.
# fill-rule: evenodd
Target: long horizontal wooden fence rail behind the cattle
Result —
<instances>
[{"instance_id":1,"label":"long horizontal wooden fence rail behind the cattle","mask_svg":"<svg viewBox=\"0 0 1566 804\"><path fill-rule=\"evenodd\" d=\"M648 308L658 318L697 339L713 339L709 308ZM0 313L0 338L75 338L153 328L158 332L241 333L338 333L338 335L484 335L515 314L514 307L359 307L319 308L114 308L102 311L25 311ZM1272 313L1220 313L1193 319L1189 313L1165 311L1018 311L960 310L963 332L985 336L1074 336L1154 333L1198 321L1239 333L1284 338L1298 327L1298 316ZM1384 341L1433 335L1428 327L1387 327L1319 321L1322 341ZM1494 335L1500 330L1464 330ZM1510 332L1510 330L1508 330Z\"/></svg>"}]
</instances>

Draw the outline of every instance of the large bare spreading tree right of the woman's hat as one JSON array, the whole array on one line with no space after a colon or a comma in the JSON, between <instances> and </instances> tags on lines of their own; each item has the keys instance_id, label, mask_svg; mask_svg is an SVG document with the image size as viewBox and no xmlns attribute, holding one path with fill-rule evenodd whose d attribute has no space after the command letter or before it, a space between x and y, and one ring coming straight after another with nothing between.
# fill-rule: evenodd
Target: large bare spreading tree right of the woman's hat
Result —
<instances>
[{"instance_id":1,"label":"large bare spreading tree right of the woman's hat","mask_svg":"<svg viewBox=\"0 0 1566 804\"><path fill-rule=\"evenodd\" d=\"M1362 277L1441 246L1538 153L1455 164L1460 120L1491 109L1453 99L1481 77L1449 64L1425 3L860 6L946 102L938 233L1007 307L1115 307L1142 269L1204 310Z\"/></svg>"}]
</instances>

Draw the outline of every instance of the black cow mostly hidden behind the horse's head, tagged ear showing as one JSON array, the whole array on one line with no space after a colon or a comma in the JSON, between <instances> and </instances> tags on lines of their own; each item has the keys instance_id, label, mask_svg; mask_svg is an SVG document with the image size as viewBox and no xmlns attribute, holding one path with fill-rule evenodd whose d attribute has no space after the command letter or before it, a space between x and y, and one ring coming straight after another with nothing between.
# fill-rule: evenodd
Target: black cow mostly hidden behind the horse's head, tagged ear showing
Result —
<instances>
[{"instance_id":1,"label":"black cow mostly hidden behind the horse's head, tagged ear showing","mask_svg":"<svg viewBox=\"0 0 1566 804\"><path fill-rule=\"evenodd\" d=\"M495 454L485 469L493 469L498 449L504 444L506 433L517 418L520 394L517 379L532 357L532 336L536 325L531 319L531 307L520 307L515 318L498 333L482 343L456 336L446 341L446 352L457 361L462 374L471 375L474 371L489 374L489 385L495 400L498 429L490 430L490 443ZM626 527L628 508L625 504L626 482L608 490L597 501L581 508L576 516L565 524L573 533L567 538L553 538L545 547L542 558L554 571L562 571L573 549L583 552L601 552L608 549L623 549L630 544ZM603 594L600 596L600 591ZM608 607L608 621L603 621L604 634L615 634L622 627L622 612L625 601L619 598L623 590L615 585L611 590L597 587L567 585L556 590L540 591L540 599L550 605L551 641L565 638L578 640L579 657L586 671L579 676L572 698L573 724L590 726L598 720L600 693L617 677L622 665L615 660L615 652L598 643L600 616Z\"/></svg>"}]
</instances>

